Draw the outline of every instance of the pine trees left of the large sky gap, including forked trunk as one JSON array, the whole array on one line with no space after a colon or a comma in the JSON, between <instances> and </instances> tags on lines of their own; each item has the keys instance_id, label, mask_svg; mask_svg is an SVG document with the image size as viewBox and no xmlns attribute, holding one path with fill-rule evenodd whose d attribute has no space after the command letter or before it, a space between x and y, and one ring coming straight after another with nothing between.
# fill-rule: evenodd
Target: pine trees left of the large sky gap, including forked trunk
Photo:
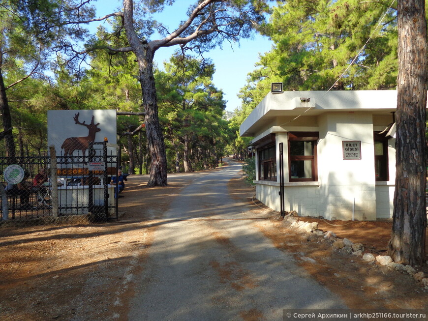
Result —
<instances>
[{"instance_id":1,"label":"pine trees left of the large sky gap, including forked trunk","mask_svg":"<svg viewBox=\"0 0 428 321\"><path fill-rule=\"evenodd\" d=\"M167 172L206 169L237 153L237 128L223 119L226 102L212 81L215 66L188 53L250 36L252 21L261 21L264 9L249 2L195 1L188 24L172 37L151 16L169 2L146 1L134 8L125 0L123 11L112 8L111 15L98 19L94 1L2 1L1 154L47 150L47 111L83 109L117 111L118 142L130 174L159 172L162 178L165 167ZM90 34L87 24L97 21L108 25ZM149 41L155 28L164 38ZM185 46L190 41L195 47ZM153 64L154 51L172 42L180 45L177 54L164 66ZM166 185L166 179L155 177L153 185Z\"/></svg>"}]
</instances>

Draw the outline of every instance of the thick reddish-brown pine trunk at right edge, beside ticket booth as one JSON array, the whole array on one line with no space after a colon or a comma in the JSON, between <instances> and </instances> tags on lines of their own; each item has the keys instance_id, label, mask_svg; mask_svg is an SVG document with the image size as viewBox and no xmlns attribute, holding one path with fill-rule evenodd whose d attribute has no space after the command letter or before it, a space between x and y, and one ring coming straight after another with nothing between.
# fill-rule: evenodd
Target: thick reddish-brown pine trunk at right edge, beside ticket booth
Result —
<instances>
[{"instance_id":1,"label":"thick reddish-brown pine trunk at right edge, beside ticket booth","mask_svg":"<svg viewBox=\"0 0 428 321\"><path fill-rule=\"evenodd\" d=\"M427 22L424 0L398 0L397 178L389 255L425 262Z\"/></svg>"}]
</instances>

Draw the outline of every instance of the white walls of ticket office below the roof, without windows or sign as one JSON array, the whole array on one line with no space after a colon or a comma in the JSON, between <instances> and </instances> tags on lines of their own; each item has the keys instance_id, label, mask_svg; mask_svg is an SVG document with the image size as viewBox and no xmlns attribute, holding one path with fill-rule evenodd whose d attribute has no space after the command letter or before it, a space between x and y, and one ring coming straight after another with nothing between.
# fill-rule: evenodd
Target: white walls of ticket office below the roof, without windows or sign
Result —
<instances>
[{"instance_id":1,"label":"white walls of ticket office below the roof, without windows or sign","mask_svg":"<svg viewBox=\"0 0 428 321\"><path fill-rule=\"evenodd\" d=\"M313 124L312 124L313 125ZM317 182L288 181L288 133L276 133L277 182L256 181L256 197L280 210L279 143L284 148L285 210L326 219L391 218L395 182L395 140L389 142L389 181L376 182L373 116L367 112L333 112L318 117ZM384 128L384 127L383 127ZM285 128L303 131L299 127ZM376 130L378 130L376 128ZM342 141L361 141L361 159L344 160Z\"/></svg>"}]
</instances>

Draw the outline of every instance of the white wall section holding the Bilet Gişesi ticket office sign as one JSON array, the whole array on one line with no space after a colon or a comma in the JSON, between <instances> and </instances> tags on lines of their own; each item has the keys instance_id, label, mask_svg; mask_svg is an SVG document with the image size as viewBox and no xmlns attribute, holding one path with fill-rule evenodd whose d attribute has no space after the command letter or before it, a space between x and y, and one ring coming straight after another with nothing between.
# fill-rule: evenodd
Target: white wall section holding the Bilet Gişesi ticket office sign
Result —
<instances>
[{"instance_id":1,"label":"white wall section holding the Bilet Gi\u015fesi ticket office sign","mask_svg":"<svg viewBox=\"0 0 428 321\"><path fill-rule=\"evenodd\" d=\"M371 113L320 116L320 212L327 219L376 219ZM361 159L343 159L343 141L361 141Z\"/></svg>"}]
</instances>

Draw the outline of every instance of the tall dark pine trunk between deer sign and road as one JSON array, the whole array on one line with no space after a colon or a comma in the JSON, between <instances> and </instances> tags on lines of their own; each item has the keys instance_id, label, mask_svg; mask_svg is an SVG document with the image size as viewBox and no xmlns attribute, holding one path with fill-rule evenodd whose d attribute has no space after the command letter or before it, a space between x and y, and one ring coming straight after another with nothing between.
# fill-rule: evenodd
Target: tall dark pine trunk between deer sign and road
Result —
<instances>
[{"instance_id":1,"label":"tall dark pine trunk between deer sign and road","mask_svg":"<svg viewBox=\"0 0 428 321\"><path fill-rule=\"evenodd\" d=\"M123 0L123 20L126 37L137 57L146 123L147 144L151 156L150 178L147 186L167 186L165 142L157 114L157 96L153 77L153 48L141 41L134 30L133 1Z\"/></svg>"}]
</instances>

